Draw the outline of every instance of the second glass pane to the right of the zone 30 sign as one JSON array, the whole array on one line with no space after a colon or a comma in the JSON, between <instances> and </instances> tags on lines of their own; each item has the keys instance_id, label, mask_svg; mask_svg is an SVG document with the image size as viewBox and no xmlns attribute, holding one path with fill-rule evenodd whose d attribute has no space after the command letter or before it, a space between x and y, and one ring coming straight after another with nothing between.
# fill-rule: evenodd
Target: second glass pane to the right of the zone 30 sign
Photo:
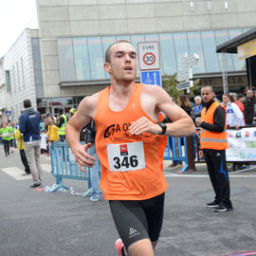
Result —
<instances>
[{"instance_id":1,"label":"second glass pane to the right of the zone 30 sign","mask_svg":"<svg viewBox=\"0 0 256 256\"><path fill-rule=\"evenodd\" d=\"M189 54L189 46L186 33L174 33L174 46L178 70L182 70L181 59L185 53Z\"/></svg>"}]
</instances>

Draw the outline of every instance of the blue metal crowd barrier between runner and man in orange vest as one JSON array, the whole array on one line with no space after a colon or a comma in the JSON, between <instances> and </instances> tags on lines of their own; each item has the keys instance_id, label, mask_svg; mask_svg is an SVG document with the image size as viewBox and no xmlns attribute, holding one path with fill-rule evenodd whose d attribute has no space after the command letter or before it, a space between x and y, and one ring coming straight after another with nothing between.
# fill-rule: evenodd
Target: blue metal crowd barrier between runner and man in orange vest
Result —
<instances>
[{"instance_id":1,"label":"blue metal crowd barrier between runner and man in orange vest","mask_svg":"<svg viewBox=\"0 0 256 256\"><path fill-rule=\"evenodd\" d=\"M184 150L182 150L182 141ZM164 152L164 160L180 160L185 162L182 172L188 169L188 152L187 152L187 138L186 137L168 137L167 146Z\"/></svg>"}]
</instances>

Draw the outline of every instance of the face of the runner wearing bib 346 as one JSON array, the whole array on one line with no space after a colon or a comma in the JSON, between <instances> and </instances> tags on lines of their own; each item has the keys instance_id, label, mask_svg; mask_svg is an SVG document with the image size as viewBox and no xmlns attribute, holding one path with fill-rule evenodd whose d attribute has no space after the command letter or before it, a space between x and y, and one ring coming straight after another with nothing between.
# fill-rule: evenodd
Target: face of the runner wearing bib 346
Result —
<instances>
[{"instance_id":1,"label":"face of the runner wearing bib 346","mask_svg":"<svg viewBox=\"0 0 256 256\"><path fill-rule=\"evenodd\" d=\"M137 76L137 53L134 46L119 43L110 49L110 64L105 70L118 82L133 82Z\"/></svg>"}]
</instances>

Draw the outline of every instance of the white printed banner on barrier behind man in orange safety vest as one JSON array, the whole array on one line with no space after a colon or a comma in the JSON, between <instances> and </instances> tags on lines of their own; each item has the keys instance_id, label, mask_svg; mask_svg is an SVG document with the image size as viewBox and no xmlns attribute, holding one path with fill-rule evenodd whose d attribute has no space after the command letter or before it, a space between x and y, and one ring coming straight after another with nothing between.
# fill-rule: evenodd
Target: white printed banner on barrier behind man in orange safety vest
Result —
<instances>
[{"instance_id":1,"label":"white printed banner on barrier behind man in orange safety vest","mask_svg":"<svg viewBox=\"0 0 256 256\"><path fill-rule=\"evenodd\" d=\"M227 130L227 161L256 161L256 127Z\"/></svg>"}]
</instances>

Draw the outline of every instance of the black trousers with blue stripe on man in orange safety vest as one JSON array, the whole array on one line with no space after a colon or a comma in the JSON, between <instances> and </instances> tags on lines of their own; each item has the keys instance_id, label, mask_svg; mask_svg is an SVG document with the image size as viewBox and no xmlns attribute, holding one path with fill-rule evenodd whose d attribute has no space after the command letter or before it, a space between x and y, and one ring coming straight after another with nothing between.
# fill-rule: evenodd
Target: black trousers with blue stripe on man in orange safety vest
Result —
<instances>
[{"instance_id":1,"label":"black trousers with blue stripe on man in orange safety vest","mask_svg":"<svg viewBox=\"0 0 256 256\"><path fill-rule=\"evenodd\" d=\"M215 201L220 205L231 206L229 174L225 150L204 150L210 182L215 192Z\"/></svg>"}]
</instances>

